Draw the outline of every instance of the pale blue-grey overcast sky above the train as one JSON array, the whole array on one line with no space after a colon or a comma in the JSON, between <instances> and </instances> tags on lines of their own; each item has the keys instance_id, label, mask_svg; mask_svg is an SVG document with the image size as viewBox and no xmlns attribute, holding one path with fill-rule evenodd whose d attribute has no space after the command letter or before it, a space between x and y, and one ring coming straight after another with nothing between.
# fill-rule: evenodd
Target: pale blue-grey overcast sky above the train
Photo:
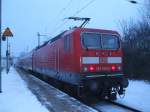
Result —
<instances>
[{"instance_id":1,"label":"pale blue-grey overcast sky above the train","mask_svg":"<svg viewBox=\"0 0 150 112\"><path fill-rule=\"evenodd\" d=\"M20 52L30 51L37 46L37 32L48 35L41 37L41 41L45 41L78 24L73 21L65 23L64 18L69 16L90 17L92 20L87 27L112 30L119 30L119 21L138 19L140 6L127 0L93 0L86 9L78 13L90 1L2 0L2 29L10 27L14 33L14 37L9 38L13 55L18 56ZM3 42L3 55L5 46L6 42Z\"/></svg>"}]
</instances>

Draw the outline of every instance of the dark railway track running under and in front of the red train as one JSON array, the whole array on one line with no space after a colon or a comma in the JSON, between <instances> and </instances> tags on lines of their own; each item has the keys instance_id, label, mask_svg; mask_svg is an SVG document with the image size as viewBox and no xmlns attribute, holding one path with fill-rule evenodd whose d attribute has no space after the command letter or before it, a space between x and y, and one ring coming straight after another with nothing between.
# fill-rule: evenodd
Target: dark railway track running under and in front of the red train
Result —
<instances>
[{"instance_id":1,"label":"dark railway track running under and in front of the red train","mask_svg":"<svg viewBox=\"0 0 150 112\"><path fill-rule=\"evenodd\" d=\"M37 75L35 73L31 73L31 74L34 77L37 77ZM44 79L42 79L42 77L37 77L37 78L39 78L42 81L45 81ZM45 81L45 83L50 84L50 85L54 86L55 88L60 89L59 87L55 86L54 84L49 83L49 81ZM122 109L118 109L117 112L141 112L140 110L137 110L135 108L129 107L129 106L124 105L124 104L120 104L120 103L113 102L113 101L110 101L110 100L100 100L97 96L94 96L94 95L91 95L91 94L89 96L84 96L83 98L80 98L76 94L70 93L70 91L68 91L68 90L64 90L62 88L60 90L67 93L67 94L69 94L70 96L78 99L80 102L82 102L85 105L97 110L98 112L110 112L109 109L106 110L106 111L103 111L102 108L101 108L103 106L99 106L99 107L95 106L96 104L103 105L104 102L105 102L105 105L111 105L110 106L111 108L116 108L116 106L119 107L119 108L122 108ZM122 111L122 110L124 110L124 111Z\"/></svg>"}]
</instances>

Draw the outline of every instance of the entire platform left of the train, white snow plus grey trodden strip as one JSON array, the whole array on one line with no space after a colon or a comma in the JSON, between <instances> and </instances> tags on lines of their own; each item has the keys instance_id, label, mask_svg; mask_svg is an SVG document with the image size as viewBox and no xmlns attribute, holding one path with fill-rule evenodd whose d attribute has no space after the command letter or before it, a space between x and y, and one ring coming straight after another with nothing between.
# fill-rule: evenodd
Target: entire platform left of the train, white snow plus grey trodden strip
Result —
<instances>
[{"instance_id":1,"label":"entire platform left of the train, white snow plus grey trodden strip","mask_svg":"<svg viewBox=\"0 0 150 112\"><path fill-rule=\"evenodd\" d=\"M96 112L30 74L20 76L14 68L2 72L0 112Z\"/></svg>"}]
</instances>

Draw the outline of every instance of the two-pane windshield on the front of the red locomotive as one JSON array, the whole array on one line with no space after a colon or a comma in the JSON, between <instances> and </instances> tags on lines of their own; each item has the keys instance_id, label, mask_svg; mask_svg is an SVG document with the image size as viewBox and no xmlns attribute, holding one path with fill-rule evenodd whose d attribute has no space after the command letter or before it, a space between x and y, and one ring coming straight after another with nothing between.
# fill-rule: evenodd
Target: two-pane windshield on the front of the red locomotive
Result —
<instances>
[{"instance_id":1,"label":"two-pane windshield on the front of the red locomotive","mask_svg":"<svg viewBox=\"0 0 150 112\"><path fill-rule=\"evenodd\" d=\"M83 33L82 44L88 49L118 49L119 38L111 34Z\"/></svg>"}]
</instances>

